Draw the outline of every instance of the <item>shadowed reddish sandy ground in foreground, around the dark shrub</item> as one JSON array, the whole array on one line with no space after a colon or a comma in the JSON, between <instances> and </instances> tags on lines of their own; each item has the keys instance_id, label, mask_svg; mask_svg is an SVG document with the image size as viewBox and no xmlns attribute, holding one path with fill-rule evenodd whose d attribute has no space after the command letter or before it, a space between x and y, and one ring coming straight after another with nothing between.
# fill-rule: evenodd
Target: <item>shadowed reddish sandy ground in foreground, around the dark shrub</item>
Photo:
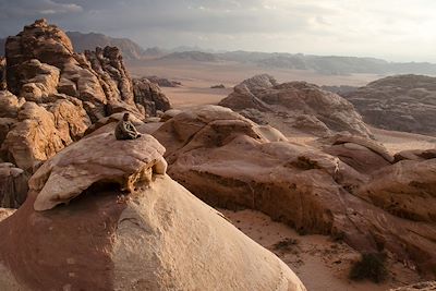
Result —
<instances>
[{"instance_id":1,"label":"shadowed reddish sandy ground in foreground, around the dark shrub","mask_svg":"<svg viewBox=\"0 0 436 291\"><path fill-rule=\"evenodd\" d=\"M310 291L385 291L422 281L414 271L391 259L388 259L390 278L383 284L350 281L348 272L360 254L347 244L324 235L299 235L258 211L218 210L243 233L280 257ZM277 245L280 242L282 246Z\"/></svg>"}]
</instances>

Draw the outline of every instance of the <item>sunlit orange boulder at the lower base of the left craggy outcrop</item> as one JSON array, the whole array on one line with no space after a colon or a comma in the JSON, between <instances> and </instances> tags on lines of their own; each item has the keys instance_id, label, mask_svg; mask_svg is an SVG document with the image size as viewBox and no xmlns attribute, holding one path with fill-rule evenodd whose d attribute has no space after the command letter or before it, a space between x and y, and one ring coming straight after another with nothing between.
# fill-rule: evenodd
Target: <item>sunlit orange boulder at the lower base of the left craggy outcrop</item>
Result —
<instances>
[{"instance_id":1,"label":"sunlit orange boulder at the lower base of the left craggy outcrop","mask_svg":"<svg viewBox=\"0 0 436 291\"><path fill-rule=\"evenodd\" d=\"M82 137L90 125L83 108L70 100L58 100L47 109L26 102L19 112L19 121L8 133L3 147L9 160L31 172Z\"/></svg>"}]
</instances>

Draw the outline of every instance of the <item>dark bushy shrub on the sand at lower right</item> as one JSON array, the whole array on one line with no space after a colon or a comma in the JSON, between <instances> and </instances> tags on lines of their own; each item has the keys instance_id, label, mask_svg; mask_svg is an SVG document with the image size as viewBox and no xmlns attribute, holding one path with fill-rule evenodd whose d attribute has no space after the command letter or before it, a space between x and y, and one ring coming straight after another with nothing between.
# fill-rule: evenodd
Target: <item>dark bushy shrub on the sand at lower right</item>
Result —
<instances>
[{"instance_id":1,"label":"dark bushy shrub on the sand at lower right","mask_svg":"<svg viewBox=\"0 0 436 291\"><path fill-rule=\"evenodd\" d=\"M362 254L362 258L355 262L350 270L350 279L371 280L373 282L383 282L388 275L386 269L386 255L383 253Z\"/></svg>"}]
</instances>

